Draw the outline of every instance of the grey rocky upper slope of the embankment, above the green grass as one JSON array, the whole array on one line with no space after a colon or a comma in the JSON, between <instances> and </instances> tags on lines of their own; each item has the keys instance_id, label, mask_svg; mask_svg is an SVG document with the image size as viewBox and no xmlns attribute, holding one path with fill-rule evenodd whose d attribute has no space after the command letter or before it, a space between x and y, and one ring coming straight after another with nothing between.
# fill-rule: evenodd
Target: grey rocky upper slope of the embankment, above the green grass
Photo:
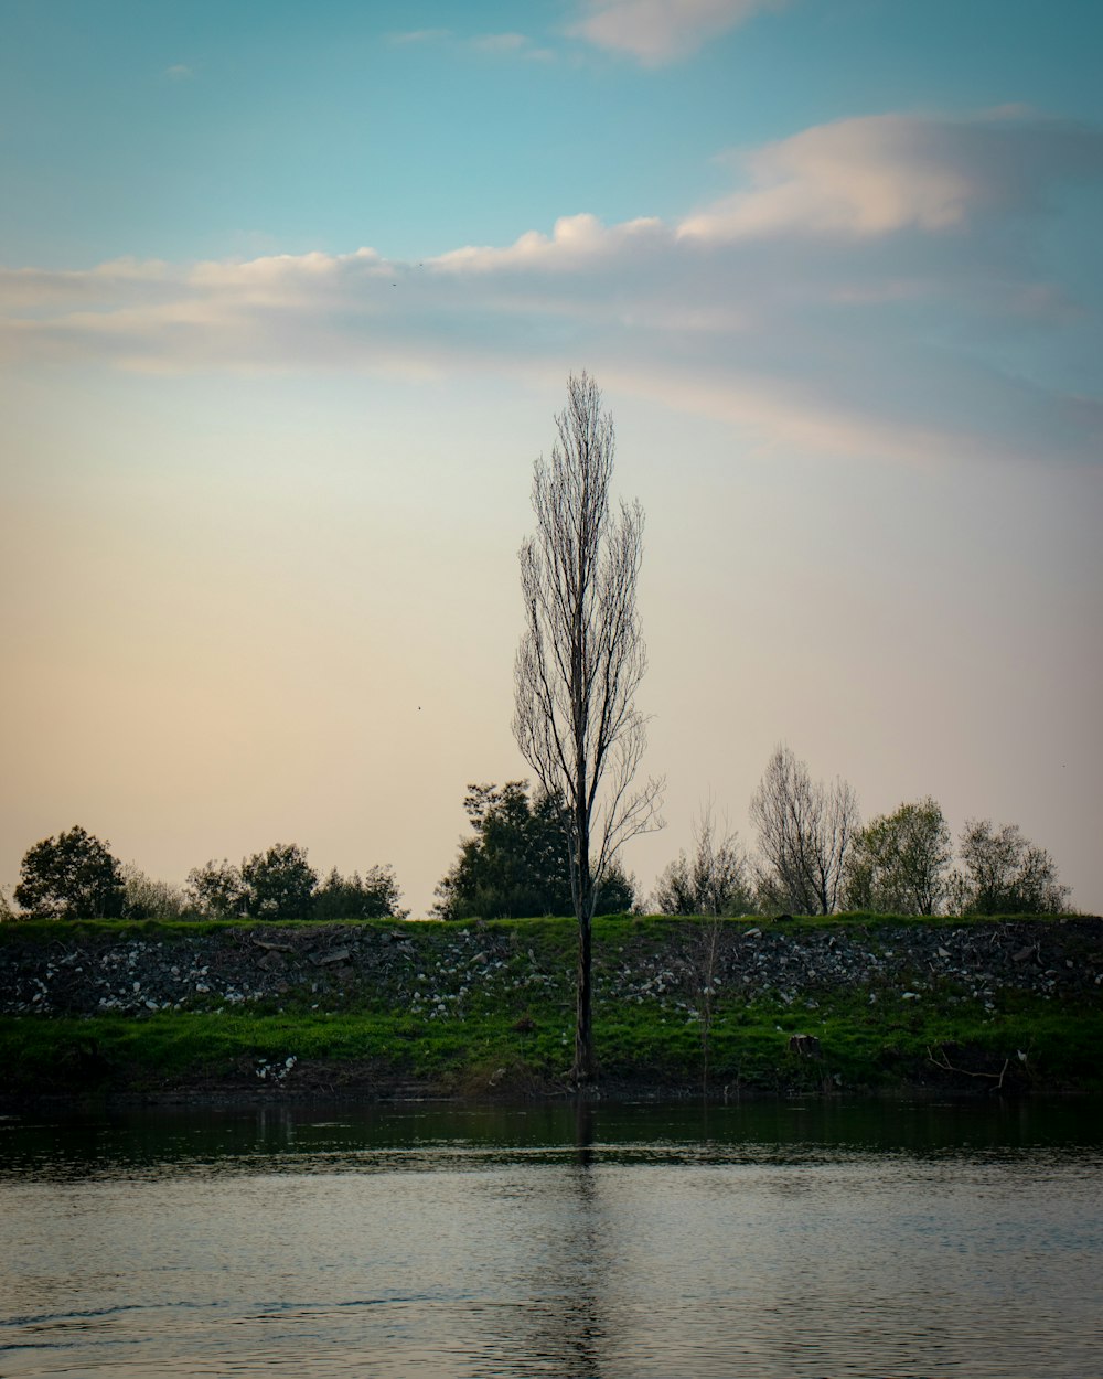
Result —
<instances>
[{"instance_id":1,"label":"grey rocky upper slope of the embankment, above the green grass","mask_svg":"<svg viewBox=\"0 0 1103 1379\"><path fill-rule=\"evenodd\" d=\"M182 928L117 934L39 929L0 945L0 1014L148 1016L263 1003L339 1011L365 1001L426 1019L462 1019L478 992L516 1004L527 992L569 1000L569 929L392 924ZM716 945L711 939L716 936ZM1103 920L1008 920L837 928L724 921L641 921L594 945L598 1001L654 1003L692 1018L702 986L717 996L816 1008L831 990L993 1008L1001 992L1103 998Z\"/></svg>"}]
</instances>

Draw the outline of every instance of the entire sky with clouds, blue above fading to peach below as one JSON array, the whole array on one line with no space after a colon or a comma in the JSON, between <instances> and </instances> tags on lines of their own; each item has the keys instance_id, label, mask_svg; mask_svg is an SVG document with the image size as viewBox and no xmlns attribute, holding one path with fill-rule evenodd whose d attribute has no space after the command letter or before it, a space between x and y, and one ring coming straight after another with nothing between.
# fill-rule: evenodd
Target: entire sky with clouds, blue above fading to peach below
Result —
<instances>
[{"instance_id":1,"label":"entire sky with clouds, blue above fading to peach below","mask_svg":"<svg viewBox=\"0 0 1103 1379\"><path fill-rule=\"evenodd\" d=\"M1097 0L6 0L0 884L80 823L423 916L587 370L666 829L786 742L1103 913Z\"/></svg>"}]
</instances>

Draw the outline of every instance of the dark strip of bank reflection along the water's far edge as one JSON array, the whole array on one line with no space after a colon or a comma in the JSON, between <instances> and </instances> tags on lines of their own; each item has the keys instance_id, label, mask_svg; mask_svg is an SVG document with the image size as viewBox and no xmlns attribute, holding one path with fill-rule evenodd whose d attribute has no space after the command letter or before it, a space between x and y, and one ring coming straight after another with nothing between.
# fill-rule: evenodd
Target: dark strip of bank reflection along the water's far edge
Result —
<instances>
[{"instance_id":1,"label":"dark strip of bank reflection along the water's far edge","mask_svg":"<svg viewBox=\"0 0 1103 1379\"><path fill-rule=\"evenodd\" d=\"M488 1160L807 1162L1080 1154L1103 1143L1103 1109L1052 1102L761 1100L738 1106L529 1107L273 1103L135 1107L101 1116L0 1116L0 1180L186 1172L456 1169Z\"/></svg>"}]
</instances>

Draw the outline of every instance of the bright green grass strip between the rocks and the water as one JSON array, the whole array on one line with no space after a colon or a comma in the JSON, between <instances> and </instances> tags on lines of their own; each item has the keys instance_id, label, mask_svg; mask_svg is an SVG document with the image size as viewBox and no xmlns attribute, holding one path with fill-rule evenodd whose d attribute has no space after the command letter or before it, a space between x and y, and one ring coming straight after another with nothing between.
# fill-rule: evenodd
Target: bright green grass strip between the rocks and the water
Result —
<instances>
[{"instance_id":1,"label":"bright green grass strip between the rocks and the water","mask_svg":"<svg viewBox=\"0 0 1103 1379\"><path fill-rule=\"evenodd\" d=\"M931 1083L983 1089L1008 1062L1008 1084L1020 1091L1103 1091L1097 1008L1038 1008L1023 1001L980 1016L932 1003L873 1012L856 993L815 1014L816 1019L797 1015L780 1003L718 1003L710 1030L711 1088L877 1091ZM660 1015L654 1007L603 1003L594 1033L607 1081L700 1085L699 1022ZM790 1052L790 1037L798 1033L819 1040L819 1059ZM492 1087L499 1069L510 1084L554 1088L571 1054L569 1011L539 1001L529 1001L520 1016L484 1009L463 1020L370 1009L0 1018L0 1066L6 1088L17 1094L261 1088L261 1067L288 1058L295 1066L281 1078L287 1088L357 1081L365 1091L386 1092L396 1084L429 1081L472 1091ZM938 1058L960 1076L944 1076L932 1062Z\"/></svg>"}]
</instances>

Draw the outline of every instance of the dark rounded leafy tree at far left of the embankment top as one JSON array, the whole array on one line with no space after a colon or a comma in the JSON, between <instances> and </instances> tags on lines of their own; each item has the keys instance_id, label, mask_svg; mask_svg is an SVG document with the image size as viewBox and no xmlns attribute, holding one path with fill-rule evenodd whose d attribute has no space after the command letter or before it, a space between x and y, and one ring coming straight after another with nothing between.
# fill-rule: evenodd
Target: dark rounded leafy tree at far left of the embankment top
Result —
<instances>
[{"instance_id":1,"label":"dark rounded leafy tree at far left of the embankment top","mask_svg":"<svg viewBox=\"0 0 1103 1379\"><path fill-rule=\"evenodd\" d=\"M36 920L120 918L125 905L119 859L79 825L28 849L14 895Z\"/></svg>"}]
</instances>

